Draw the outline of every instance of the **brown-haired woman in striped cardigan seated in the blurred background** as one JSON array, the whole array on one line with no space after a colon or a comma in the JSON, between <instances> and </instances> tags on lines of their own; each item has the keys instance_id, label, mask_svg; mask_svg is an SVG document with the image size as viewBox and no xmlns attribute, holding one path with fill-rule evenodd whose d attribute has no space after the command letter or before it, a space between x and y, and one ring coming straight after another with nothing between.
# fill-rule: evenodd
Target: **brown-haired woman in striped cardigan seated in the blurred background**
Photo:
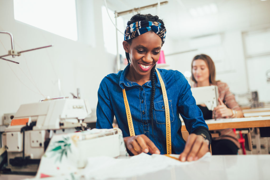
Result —
<instances>
[{"instance_id":1,"label":"brown-haired woman in striped cardigan seated in the blurred background","mask_svg":"<svg viewBox=\"0 0 270 180\"><path fill-rule=\"evenodd\" d=\"M207 109L205 105L198 107L203 112L205 120L214 118L240 118L244 117L241 108L235 101L234 95L230 92L226 83L215 80L215 64L212 59L204 54L197 55L191 63L192 81L194 87L218 86L220 105L213 111ZM236 134L232 129L224 129L218 132L219 137L213 138L211 142L212 155L237 154L240 144Z\"/></svg>"}]
</instances>

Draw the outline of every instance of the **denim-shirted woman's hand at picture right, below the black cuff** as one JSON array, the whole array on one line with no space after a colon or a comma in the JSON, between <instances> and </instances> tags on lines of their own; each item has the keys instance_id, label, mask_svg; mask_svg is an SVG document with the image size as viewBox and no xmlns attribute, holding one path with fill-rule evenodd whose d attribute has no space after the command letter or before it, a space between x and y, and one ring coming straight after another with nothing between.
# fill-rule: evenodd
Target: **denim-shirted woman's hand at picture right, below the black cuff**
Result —
<instances>
[{"instance_id":1,"label":"denim-shirted woman's hand at picture right, below the black cuff","mask_svg":"<svg viewBox=\"0 0 270 180\"><path fill-rule=\"evenodd\" d=\"M190 134L187 138L184 151L180 154L180 161L196 161L208 152L209 141L203 136Z\"/></svg>"}]
</instances>

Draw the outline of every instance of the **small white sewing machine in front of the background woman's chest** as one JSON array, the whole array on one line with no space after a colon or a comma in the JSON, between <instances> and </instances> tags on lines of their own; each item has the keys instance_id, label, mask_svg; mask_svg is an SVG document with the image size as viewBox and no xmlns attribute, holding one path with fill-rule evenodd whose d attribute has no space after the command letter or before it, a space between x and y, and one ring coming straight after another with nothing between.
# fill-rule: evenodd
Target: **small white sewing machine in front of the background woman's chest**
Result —
<instances>
[{"instance_id":1,"label":"small white sewing machine in front of the background woman's chest","mask_svg":"<svg viewBox=\"0 0 270 180\"><path fill-rule=\"evenodd\" d=\"M218 87L203 86L191 88L196 104L205 104L208 110L214 110L218 106Z\"/></svg>"}]
</instances>

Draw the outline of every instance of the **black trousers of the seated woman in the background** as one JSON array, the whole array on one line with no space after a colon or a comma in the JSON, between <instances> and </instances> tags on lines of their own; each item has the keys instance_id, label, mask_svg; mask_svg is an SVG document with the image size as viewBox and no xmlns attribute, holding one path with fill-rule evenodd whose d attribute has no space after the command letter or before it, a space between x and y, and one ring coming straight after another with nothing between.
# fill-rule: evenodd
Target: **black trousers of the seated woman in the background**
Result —
<instances>
[{"instance_id":1,"label":"black trousers of the seated woman in the background","mask_svg":"<svg viewBox=\"0 0 270 180\"><path fill-rule=\"evenodd\" d=\"M212 140L212 155L237 154L238 147L230 140Z\"/></svg>"}]
</instances>

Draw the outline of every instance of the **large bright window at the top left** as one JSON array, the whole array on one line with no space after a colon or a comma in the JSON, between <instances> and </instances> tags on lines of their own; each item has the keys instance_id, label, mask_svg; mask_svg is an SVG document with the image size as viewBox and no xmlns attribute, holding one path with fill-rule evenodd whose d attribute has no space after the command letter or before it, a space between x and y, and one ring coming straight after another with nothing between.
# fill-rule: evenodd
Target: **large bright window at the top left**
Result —
<instances>
[{"instance_id":1,"label":"large bright window at the top left","mask_svg":"<svg viewBox=\"0 0 270 180\"><path fill-rule=\"evenodd\" d=\"M75 0L14 0L14 18L68 39L78 39Z\"/></svg>"}]
</instances>

